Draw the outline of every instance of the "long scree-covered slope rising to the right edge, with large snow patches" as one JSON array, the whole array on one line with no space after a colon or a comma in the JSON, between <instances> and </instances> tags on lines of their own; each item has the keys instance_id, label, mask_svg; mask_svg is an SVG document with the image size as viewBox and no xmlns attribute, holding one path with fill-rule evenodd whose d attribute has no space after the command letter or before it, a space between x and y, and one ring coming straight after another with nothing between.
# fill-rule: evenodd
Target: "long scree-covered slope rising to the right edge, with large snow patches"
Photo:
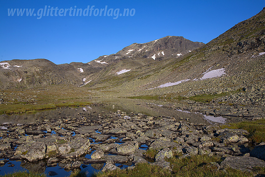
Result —
<instances>
[{"instance_id":1,"label":"long scree-covered slope rising to the right edge, with large snow patches","mask_svg":"<svg viewBox=\"0 0 265 177\"><path fill-rule=\"evenodd\" d=\"M108 96L171 94L171 97L232 93L255 84L257 89L262 89L262 84L265 83L264 35L265 9L236 24L204 46L186 54L183 52L185 55L179 57L176 57L178 52L175 52L174 57L151 62L152 55L157 56L158 52L165 50L163 48L162 51L149 53L146 59L151 59L150 63L129 64L130 61L142 61L144 56L144 53L140 55L144 49L140 54L138 52L144 46L132 44L118 52L129 57L130 61L129 58L128 61L114 61L114 56L110 56L110 60L107 60L109 56L104 56L106 59L99 58L111 64L105 64L106 67L97 77L91 78L86 87L100 89L108 93ZM156 45L156 42L151 44ZM133 48L134 46L136 47ZM129 51L132 49L134 50Z\"/></svg>"}]
</instances>

